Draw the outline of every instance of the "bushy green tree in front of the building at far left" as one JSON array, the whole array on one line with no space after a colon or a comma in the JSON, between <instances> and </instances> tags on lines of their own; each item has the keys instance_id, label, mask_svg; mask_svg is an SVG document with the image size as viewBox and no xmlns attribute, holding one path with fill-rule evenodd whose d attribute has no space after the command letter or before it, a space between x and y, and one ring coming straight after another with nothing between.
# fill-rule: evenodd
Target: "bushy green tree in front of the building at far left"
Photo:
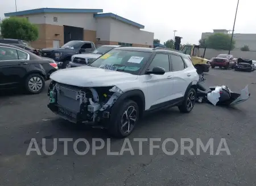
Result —
<instances>
[{"instance_id":1,"label":"bushy green tree in front of the building at far left","mask_svg":"<svg viewBox=\"0 0 256 186\"><path fill-rule=\"evenodd\" d=\"M38 27L26 18L10 17L0 23L3 38L22 39L28 42L38 39Z\"/></svg>"}]
</instances>

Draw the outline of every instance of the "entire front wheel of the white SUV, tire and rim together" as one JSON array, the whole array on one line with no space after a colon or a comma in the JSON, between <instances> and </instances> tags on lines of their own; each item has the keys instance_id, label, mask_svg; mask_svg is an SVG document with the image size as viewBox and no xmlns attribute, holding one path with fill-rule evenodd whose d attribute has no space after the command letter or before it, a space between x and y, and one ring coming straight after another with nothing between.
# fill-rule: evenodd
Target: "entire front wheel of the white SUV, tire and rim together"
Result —
<instances>
[{"instance_id":1,"label":"entire front wheel of the white SUV, tire and rim together","mask_svg":"<svg viewBox=\"0 0 256 186\"><path fill-rule=\"evenodd\" d=\"M127 100L117 109L117 115L112 115L110 118L109 133L116 138L125 138L133 132L137 125L139 106L136 102Z\"/></svg>"}]
</instances>

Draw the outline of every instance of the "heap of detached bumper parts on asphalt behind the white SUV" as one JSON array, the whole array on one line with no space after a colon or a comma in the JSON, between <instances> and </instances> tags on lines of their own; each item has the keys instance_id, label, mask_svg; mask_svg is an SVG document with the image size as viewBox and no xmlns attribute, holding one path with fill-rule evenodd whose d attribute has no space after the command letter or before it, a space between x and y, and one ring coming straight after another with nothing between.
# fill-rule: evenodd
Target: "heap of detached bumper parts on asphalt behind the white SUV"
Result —
<instances>
[{"instance_id":1,"label":"heap of detached bumper parts on asphalt behind the white SUV","mask_svg":"<svg viewBox=\"0 0 256 186\"><path fill-rule=\"evenodd\" d=\"M206 88L203 84L205 80L204 76L200 77L200 81L197 83L197 102L208 102L216 105L236 105L241 102L245 102L249 99L250 93L248 85L241 90L241 93L232 92L228 86L210 86Z\"/></svg>"}]
</instances>

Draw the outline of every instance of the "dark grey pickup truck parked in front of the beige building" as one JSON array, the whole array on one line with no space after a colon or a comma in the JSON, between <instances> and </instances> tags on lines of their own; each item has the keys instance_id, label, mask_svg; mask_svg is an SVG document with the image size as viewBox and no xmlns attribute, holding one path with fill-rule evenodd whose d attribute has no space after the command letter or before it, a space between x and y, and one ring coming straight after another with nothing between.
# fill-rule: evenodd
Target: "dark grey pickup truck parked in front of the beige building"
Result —
<instances>
[{"instance_id":1,"label":"dark grey pickup truck parked in front of the beige building","mask_svg":"<svg viewBox=\"0 0 256 186\"><path fill-rule=\"evenodd\" d=\"M56 61L59 68L66 68L71 56L78 53L90 53L94 51L93 42L73 40L65 43L60 48L44 48L40 51L40 56L49 57Z\"/></svg>"}]
</instances>

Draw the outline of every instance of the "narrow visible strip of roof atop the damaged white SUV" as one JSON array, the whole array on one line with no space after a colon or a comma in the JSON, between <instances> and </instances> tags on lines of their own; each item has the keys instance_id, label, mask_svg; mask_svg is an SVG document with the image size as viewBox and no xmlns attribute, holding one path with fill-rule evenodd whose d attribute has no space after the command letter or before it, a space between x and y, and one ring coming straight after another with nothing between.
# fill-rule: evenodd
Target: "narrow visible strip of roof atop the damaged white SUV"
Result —
<instances>
[{"instance_id":1,"label":"narrow visible strip of roof atop the damaged white SUV","mask_svg":"<svg viewBox=\"0 0 256 186\"><path fill-rule=\"evenodd\" d=\"M139 51L139 52L163 52L163 53L172 53L176 55L180 55L183 57L187 57L184 53L177 51L171 48L146 48L146 47L118 47L115 48L118 50L129 50L129 51Z\"/></svg>"}]
</instances>

